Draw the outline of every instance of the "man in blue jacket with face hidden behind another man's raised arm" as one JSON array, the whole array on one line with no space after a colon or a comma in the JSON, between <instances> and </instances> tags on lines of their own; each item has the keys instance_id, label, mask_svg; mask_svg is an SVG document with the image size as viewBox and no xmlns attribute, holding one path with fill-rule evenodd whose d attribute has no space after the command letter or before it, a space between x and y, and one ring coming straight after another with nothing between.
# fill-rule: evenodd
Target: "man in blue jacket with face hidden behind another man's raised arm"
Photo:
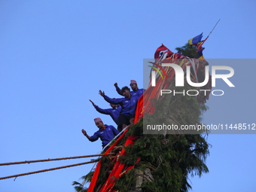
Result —
<instances>
[{"instance_id":1,"label":"man in blue jacket with face hidden behind another man's raised arm","mask_svg":"<svg viewBox=\"0 0 256 192\"><path fill-rule=\"evenodd\" d=\"M92 102L90 99L89 101ZM122 110L120 105L110 104L111 108L103 109L103 108L99 108L98 105L95 105L94 102L92 102L92 104L93 104L93 107L96 108L96 111L98 111L101 114L109 114L111 118L114 120L114 123L117 123L117 125L119 124L118 117L119 117L120 111ZM117 130L121 131L122 130L121 126L120 127L118 126Z\"/></svg>"}]
</instances>

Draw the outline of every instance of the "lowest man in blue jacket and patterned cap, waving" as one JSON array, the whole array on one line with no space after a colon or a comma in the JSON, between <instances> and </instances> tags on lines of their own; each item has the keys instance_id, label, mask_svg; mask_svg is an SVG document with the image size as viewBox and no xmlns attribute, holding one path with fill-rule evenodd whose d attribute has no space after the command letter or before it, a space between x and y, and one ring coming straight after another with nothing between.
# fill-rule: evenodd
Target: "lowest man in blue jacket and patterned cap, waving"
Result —
<instances>
[{"instance_id":1,"label":"lowest man in blue jacket and patterned cap, waving","mask_svg":"<svg viewBox=\"0 0 256 192\"><path fill-rule=\"evenodd\" d=\"M82 130L82 133L87 137L87 139L89 139L90 142L95 142L100 138L100 140L102 140L102 148L104 148L105 145L111 142L114 136L117 136L119 132L114 128L114 126L104 124L99 117L95 118L94 122L96 126L98 126L99 130L94 133L93 136L88 136L84 129Z\"/></svg>"}]
</instances>

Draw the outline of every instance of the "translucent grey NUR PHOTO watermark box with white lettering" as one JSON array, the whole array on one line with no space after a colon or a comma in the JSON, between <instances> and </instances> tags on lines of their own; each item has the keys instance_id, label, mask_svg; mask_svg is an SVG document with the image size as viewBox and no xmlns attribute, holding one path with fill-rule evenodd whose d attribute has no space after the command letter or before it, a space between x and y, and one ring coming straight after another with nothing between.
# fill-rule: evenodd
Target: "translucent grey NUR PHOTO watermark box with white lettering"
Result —
<instances>
[{"instance_id":1,"label":"translucent grey NUR PHOTO watermark box with white lettering","mask_svg":"<svg viewBox=\"0 0 256 192\"><path fill-rule=\"evenodd\" d=\"M202 123L207 108L204 104L216 96L223 98L225 91L235 88L234 62L241 59L184 58L161 63L144 59L144 88L148 93L143 96L143 133L255 134L254 122Z\"/></svg>"}]
</instances>

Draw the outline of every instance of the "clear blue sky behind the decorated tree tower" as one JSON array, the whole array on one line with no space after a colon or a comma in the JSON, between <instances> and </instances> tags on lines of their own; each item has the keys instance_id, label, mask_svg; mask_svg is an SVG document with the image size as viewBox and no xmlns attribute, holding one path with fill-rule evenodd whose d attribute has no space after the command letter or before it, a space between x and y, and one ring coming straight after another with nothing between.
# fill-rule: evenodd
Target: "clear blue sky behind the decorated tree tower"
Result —
<instances>
[{"instance_id":1,"label":"clear blue sky behind the decorated tree tower","mask_svg":"<svg viewBox=\"0 0 256 192\"><path fill-rule=\"evenodd\" d=\"M255 59L253 0L245 1L1 1L0 163L98 154L96 132L104 90L118 97L131 79L142 87L142 63L162 43L175 51L203 32L205 58ZM203 122L256 123L255 61L233 67L236 86L217 82ZM211 65L211 63L210 63ZM254 191L256 135L209 135L209 173L190 178L194 191ZM81 163L89 159L1 166L0 177ZM92 165L9 178L0 191L74 191ZM81 181L81 180L80 180Z\"/></svg>"}]
</instances>

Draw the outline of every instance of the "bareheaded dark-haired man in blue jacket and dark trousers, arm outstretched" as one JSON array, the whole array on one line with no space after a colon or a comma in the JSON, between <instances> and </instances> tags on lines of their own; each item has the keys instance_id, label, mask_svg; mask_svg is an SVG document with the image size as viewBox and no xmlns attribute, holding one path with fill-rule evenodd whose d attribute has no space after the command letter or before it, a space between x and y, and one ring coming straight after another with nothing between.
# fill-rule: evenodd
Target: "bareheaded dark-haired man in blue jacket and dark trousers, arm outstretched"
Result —
<instances>
[{"instance_id":1,"label":"bareheaded dark-haired man in blue jacket and dark trousers, arm outstretched","mask_svg":"<svg viewBox=\"0 0 256 192\"><path fill-rule=\"evenodd\" d=\"M139 97L131 96L130 89L128 87L123 87L121 92L123 93L124 98L111 99L105 95L104 91L102 92L101 90L99 90L99 95L103 96L107 102L121 106L122 110L118 117L118 123L122 126L122 129L124 129L130 124L133 125Z\"/></svg>"}]
</instances>

